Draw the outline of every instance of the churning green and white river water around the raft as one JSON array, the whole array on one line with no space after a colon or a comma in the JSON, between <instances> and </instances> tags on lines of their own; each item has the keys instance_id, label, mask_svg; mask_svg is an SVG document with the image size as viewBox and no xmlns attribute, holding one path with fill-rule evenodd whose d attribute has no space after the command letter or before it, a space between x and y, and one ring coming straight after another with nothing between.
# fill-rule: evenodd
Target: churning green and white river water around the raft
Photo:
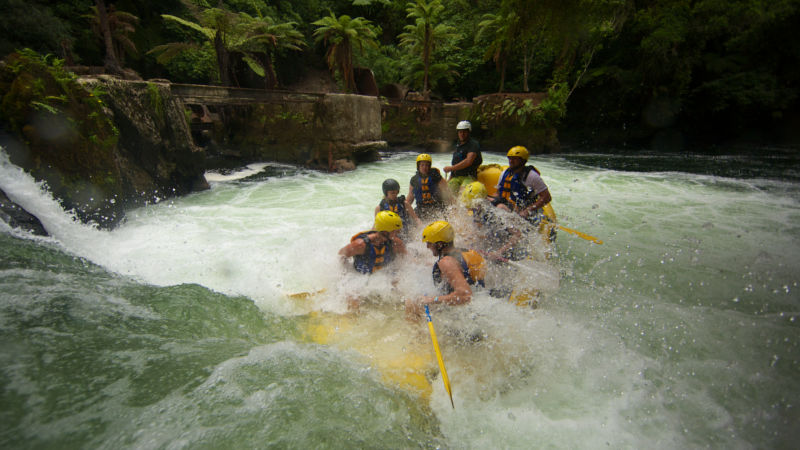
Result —
<instances>
[{"instance_id":1,"label":"churning green and white river water around the raft","mask_svg":"<svg viewBox=\"0 0 800 450\"><path fill-rule=\"evenodd\" d=\"M604 243L560 232L521 281L544 286L537 309L478 292L432 312L455 408L435 367L421 396L356 344L430 358L402 311L432 289L422 244L373 277L336 256L415 154L209 174L113 231L3 154L0 187L52 237L0 225L0 447L796 448L800 166L760 150L536 157L560 224ZM309 338L354 294L377 304L367 334Z\"/></svg>"}]
</instances>

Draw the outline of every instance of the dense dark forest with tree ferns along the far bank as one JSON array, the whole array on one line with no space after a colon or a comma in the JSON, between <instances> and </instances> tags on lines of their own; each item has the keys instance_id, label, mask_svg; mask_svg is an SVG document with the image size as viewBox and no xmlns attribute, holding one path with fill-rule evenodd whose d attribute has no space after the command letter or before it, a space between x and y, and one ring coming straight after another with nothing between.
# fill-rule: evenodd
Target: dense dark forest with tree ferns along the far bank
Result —
<instances>
[{"instance_id":1,"label":"dense dark forest with tree ferns along the far bank","mask_svg":"<svg viewBox=\"0 0 800 450\"><path fill-rule=\"evenodd\" d=\"M55 4L53 4L55 3ZM0 55L283 89L354 71L422 98L544 92L562 140L800 139L800 0L0 0ZM526 110L530 109L530 110Z\"/></svg>"}]
</instances>

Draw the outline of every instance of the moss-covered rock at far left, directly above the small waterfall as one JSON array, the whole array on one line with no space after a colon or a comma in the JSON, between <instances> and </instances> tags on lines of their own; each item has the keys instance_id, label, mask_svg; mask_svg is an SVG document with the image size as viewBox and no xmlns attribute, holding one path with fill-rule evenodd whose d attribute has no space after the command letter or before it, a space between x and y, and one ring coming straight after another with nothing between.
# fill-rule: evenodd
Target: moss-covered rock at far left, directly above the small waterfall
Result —
<instances>
[{"instance_id":1,"label":"moss-covered rock at far left, directly above the small waterfall","mask_svg":"<svg viewBox=\"0 0 800 450\"><path fill-rule=\"evenodd\" d=\"M99 92L85 90L59 60L14 53L0 67L0 120L20 141L12 162L45 181L65 209L114 220L122 192L118 130Z\"/></svg>"}]
</instances>

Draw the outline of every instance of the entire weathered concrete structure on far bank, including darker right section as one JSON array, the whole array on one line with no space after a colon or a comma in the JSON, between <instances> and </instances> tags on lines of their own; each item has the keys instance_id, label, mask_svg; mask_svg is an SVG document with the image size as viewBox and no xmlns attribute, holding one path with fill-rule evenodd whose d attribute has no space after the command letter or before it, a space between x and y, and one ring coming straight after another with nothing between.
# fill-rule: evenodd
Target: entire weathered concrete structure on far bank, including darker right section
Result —
<instances>
[{"instance_id":1,"label":"entire weathered concrete structure on far bank, including darker right section","mask_svg":"<svg viewBox=\"0 0 800 450\"><path fill-rule=\"evenodd\" d=\"M389 146L449 151L456 123L468 118L472 108L468 102L170 86L191 109L195 140L212 157L227 152L329 169L336 169L336 160L374 160Z\"/></svg>"}]
</instances>

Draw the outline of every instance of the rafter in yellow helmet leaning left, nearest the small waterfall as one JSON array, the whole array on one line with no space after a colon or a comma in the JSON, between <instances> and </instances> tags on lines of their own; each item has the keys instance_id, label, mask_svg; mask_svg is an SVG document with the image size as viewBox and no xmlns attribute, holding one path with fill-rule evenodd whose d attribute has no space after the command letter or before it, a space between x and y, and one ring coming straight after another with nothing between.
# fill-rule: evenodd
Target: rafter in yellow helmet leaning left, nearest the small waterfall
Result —
<instances>
[{"instance_id":1,"label":"rafter in yellow helmet leaning left, nearest the small waterfall","mask_svg":"<svg viewBox=\"0 0 800 450\"><path fill-rule=\"evenodd\" d=\"M406 246L397 235L403 228L403 220L391 211L381 211L375 215L375 224L370 231L362 231L350 239L350 243L339 250L339 256L346 262L353 258L353 267L363 274L371 274L386 267L406 253Z\"/></svg>"}]
</instances>

